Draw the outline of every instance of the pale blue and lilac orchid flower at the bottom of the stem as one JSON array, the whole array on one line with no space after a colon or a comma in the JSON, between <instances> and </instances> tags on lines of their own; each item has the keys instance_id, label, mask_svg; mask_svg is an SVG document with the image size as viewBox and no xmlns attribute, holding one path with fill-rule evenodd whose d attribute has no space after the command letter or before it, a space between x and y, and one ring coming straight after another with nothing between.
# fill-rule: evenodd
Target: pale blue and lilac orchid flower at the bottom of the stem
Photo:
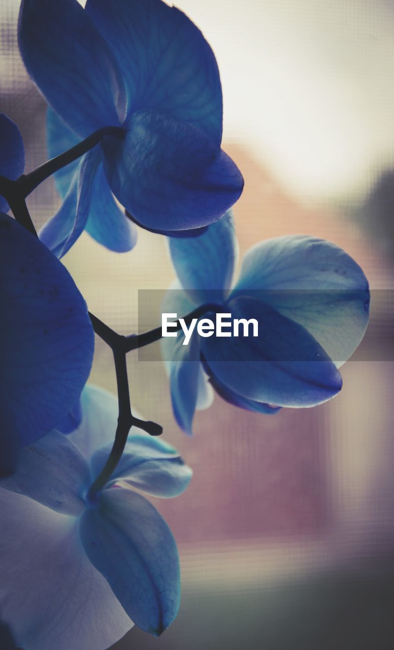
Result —
<instances>
[{"instance_id":1,"label":"pale blue and lilac orchid flower at the bottom of the stem","mask_svg":"<svg viewBox=\"0 0 394 650\"><path fill-rule=\"evenodd\" d=\"M174 497L192 472L137 430L95 504L85 501L111 449L116 399L82 394L83 420L21 452L0 481L0 611L24 650L105 650L133 623L160 634L179 606L179 562L157 510L130 488Z\"/></svg>"}]
</instances>

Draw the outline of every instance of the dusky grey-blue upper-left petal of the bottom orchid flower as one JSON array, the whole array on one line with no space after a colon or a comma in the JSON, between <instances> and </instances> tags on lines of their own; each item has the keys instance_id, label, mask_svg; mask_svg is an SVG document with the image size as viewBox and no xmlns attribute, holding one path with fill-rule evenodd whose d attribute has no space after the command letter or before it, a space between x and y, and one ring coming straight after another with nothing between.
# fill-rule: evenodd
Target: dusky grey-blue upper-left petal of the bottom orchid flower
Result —
<instances>
[{"instance_id":1,"label":"dusky grey-blue upper-left petal of the bottom orchid flower","mask_svg":"<svg viewBox=\"0 0 394 650\"><path fill-rule=\"evenodd\" d=\"M82 495L89 485L85 458L66 435L55 429L23 448L17 471L0 480L0 488L23 494L66 515L83 512Z\"/></svg>"}]
</instances>

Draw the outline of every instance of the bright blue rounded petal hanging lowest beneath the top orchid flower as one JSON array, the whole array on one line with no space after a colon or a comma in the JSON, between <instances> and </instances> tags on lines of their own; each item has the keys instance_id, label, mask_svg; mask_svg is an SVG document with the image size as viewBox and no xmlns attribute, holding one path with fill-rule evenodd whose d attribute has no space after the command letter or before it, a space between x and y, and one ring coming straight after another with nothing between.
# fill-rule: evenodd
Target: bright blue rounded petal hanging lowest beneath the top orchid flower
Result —
<instances>
[{"instance_id":1,"label":"bright blue rounded petal hanging lowest beneath the top orchid flower","mask_svg":"<svg viewBox=\"0 0 394 650\"><path fill-rule=\"evenodd\" d=\"M99 244L116 253L128 252L137 243L137 227L116 203L102 162L92 184L86 232Z\"/></svg>"}]
</instances>

